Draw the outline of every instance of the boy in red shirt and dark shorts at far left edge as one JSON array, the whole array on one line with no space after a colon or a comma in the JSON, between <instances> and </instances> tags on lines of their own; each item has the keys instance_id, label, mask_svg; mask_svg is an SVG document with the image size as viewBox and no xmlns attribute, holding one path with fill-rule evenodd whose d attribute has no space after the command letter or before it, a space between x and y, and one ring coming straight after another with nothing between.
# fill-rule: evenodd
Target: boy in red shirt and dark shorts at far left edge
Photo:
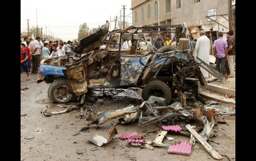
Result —
<instances>
[{"instance_id":1,"label":"boy in red shirt and dark shorts at far left edge","mask_svg":"<svg viewBox=\"0 0 256 161\"><path fill-rule=\"evenodd\" d=\"M21 81L22 69L24 69L24 71L27 73L27 76L28 76L27 80L30 80L29 70L27 66L28 53L26 50L24 50L25 46L26 45L24 43L20 44L20 81Z\"/></svg>"}]
</instances>

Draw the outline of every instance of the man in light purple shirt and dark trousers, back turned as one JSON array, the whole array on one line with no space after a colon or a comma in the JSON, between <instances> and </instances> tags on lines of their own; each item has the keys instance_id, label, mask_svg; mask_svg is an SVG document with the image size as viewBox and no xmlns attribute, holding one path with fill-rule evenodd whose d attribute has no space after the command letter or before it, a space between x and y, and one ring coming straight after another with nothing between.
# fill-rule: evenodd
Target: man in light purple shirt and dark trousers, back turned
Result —
<instances>
[{"instance_id":1,"label":"man in light purple shirt and dark trousers, back turned","mask_svg":"<svg viewBox=\"0 0 256 161\"><path fill-rule=\"evenodd\" d=\"M223 38L223 33L219 32L219 39L215 40L213 43L213 52L216 57L216 69L222 74L225 72L226 60L228 59L227 55L227 41Z\"/></svg>"}]
</instances>

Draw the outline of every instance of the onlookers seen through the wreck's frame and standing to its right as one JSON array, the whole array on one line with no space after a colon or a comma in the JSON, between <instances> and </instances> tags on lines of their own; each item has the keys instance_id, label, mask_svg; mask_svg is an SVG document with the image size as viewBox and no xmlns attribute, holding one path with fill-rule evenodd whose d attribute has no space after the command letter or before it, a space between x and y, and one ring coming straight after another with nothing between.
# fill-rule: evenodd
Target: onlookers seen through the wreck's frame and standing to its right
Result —
<instances>
[{"instance_id":1,"label":"onlookers seen through the wreck's frame and standing to its right","mask_svg":"<svg viewBox=\"0 0 256 161\"><path fill-rule=\"evenodd\" d=\"M200 29L199 31L200 38L198 40L194 40L193 37L190 37L190 43L188 44L188 47L191 46L191 48L196 49L196 56L203 60L205 63L210 64L209 60L209 54L211 50L211 44L209 38L205 36L204 30ZM141 41L139 43L137 39L131 40L129 37L127 39L124 39L123 44L121 45L121 48L130 48L131 46L146 46L146 43L148 44L148 52L156 52L156 49L159 49L162 46L166 45L172 45L176 46L176 43L178 45L179 42L176 42L174 39L173 41L170 40L170 35L166 36L166 41L162 40L162 36L159 34L156 37L157 39L153 41L153 46L148 39L147 42ZM234 64L235 64L235 38L234 38L234 32L230 30L227 33L226 36L227 40L223 39L223 33L219 32L218 39L214 41L213 43L213 52L214 56L216 58L216 69L227 76L228 78L234 77ZM178 40L179 41L179 40ZM113 41L112 41L113 42ZM114 41L116 42L116 40ZM135 43L134 43L135 42ZM114 48L118 48L118 44L113 45ZM204 78L207 78L209 76L209 73L201 68L200 69Z\"/></svg>"}]
</instances>

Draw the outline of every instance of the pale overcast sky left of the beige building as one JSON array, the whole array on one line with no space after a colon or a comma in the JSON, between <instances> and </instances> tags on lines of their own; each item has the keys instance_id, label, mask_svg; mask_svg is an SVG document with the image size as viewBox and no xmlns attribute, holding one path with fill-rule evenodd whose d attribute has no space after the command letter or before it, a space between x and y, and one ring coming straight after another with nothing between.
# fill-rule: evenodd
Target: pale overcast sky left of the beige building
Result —
<instances>
[{"instance_id":1,"label":"pale overcast sky left of the beige building","mask_svg":"<svg viewBox=\"0 0 256 161\"><path fill-rule=\"evenodd\" d=\"M120 17L122 5L126 5L125 20L132 23L131 0L62 0L62 1L35 1L21 0L21 32L28 31L29 27L43 28L43 35L54 34L54 37L64 41L77 38L79 25L86 22L91 29L102 26L106 20L114 20L114 16ZM37 9L37 20L36 20ZM123 16L123 10L121 11ZM130 15L129 15L130 14ZM123 17L122 17L123 20ZM118 21L117 21L118 23ZM111 31L114 29L111 22ZM47 28L47 29L46 29ZM47 31L46 31L47 30Z\"/></svg>"}]
</instances>

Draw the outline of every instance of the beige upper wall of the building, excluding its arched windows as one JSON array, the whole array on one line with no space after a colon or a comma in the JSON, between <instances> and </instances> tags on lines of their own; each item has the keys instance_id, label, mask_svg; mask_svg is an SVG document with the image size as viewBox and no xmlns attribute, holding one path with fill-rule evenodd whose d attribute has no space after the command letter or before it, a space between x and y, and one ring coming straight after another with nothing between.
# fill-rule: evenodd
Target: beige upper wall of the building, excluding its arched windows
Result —
<instances>
[{"instance_id":1,"label":"beige upper wall of the building, excluding its arched windows","mask_svg":"<svg viewBox=\"0 0 256 161\"><path fill-rule=\"evenodd\" d=\"M133 26L157 26L158 16L154 16L154 4L157 0L132 0L132 24ZM208 9L217 8L217 15L228 14L228 0L200 0L195 3L194 0L181 0L181 8L177 8L177 0L170 0L171 11L166 13L166 0L160 0L160 25L176 25L186 23L188 27L200 26L205 31L228 32L228 16L217 16L217 23L207 21ZM148 5L151 6L151 18L148 19ZM141 20L141 10L144 9L144 20ZM135 23L135 11L137 12L137 21Z\"/></svg>"}]
</instances>

